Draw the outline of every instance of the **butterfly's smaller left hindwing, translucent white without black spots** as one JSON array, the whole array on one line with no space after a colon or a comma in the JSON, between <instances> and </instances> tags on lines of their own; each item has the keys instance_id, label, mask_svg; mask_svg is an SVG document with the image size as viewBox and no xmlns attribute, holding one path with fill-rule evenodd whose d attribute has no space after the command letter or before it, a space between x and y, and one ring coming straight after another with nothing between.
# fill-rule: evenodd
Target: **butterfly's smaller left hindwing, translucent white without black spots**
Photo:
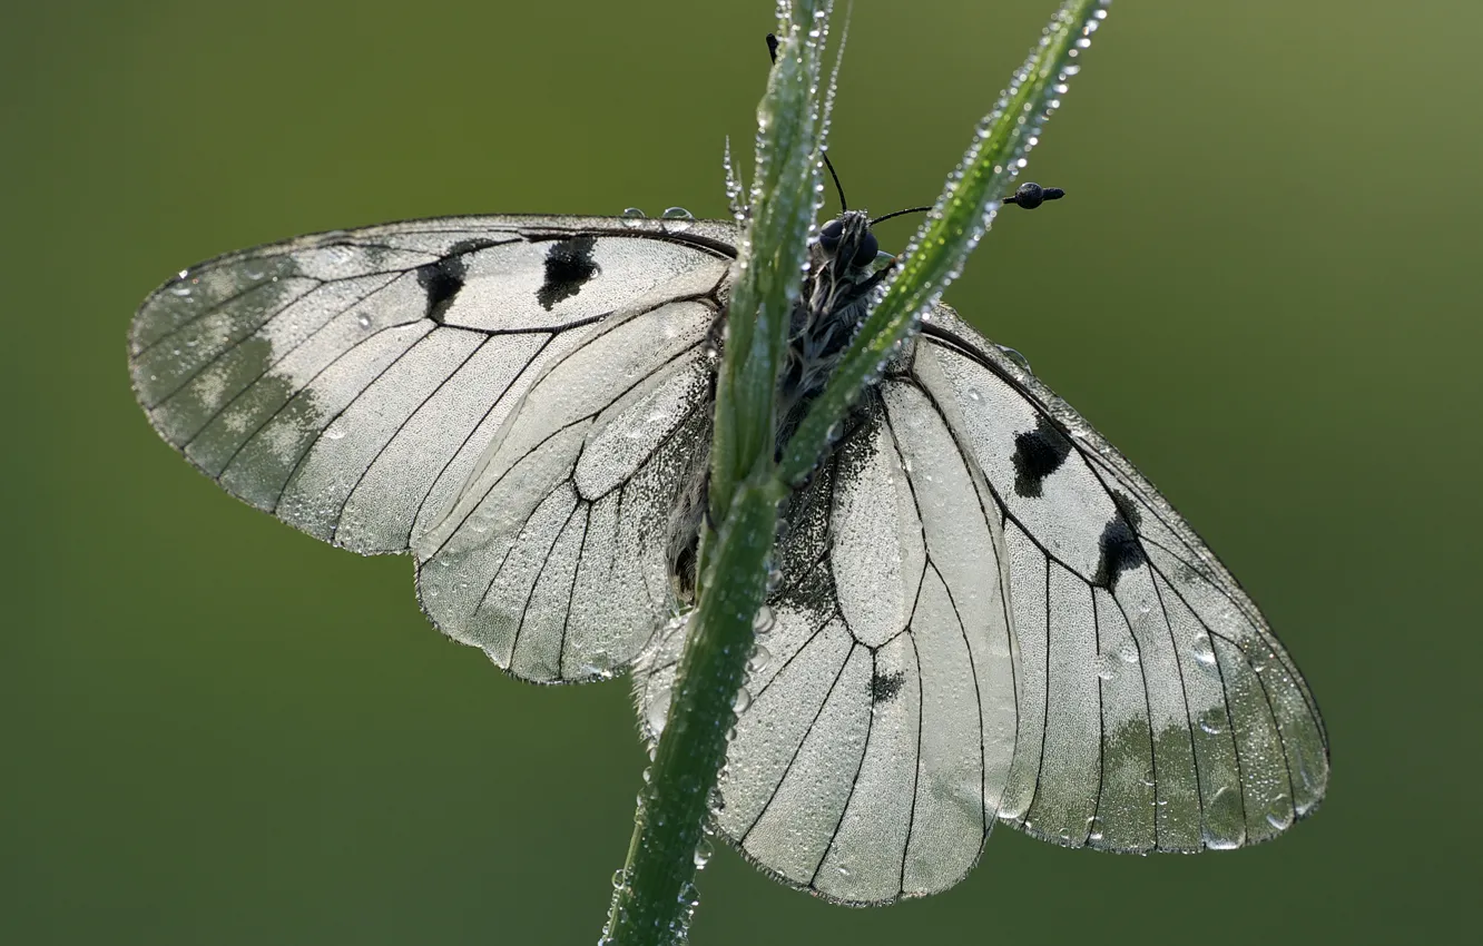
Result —
<instances>
[{"instance_id":1,"label":"butterfly's smaller left hindwing, translucent white without black spots","mask_svg":"<svg viewBox=\"0 0 1483 946\"><path fill-rule=\"evenodd\" d=\"M715 316L709 298L641 304L547 368L417 541L439 627L540 682L638 655L672 606L670 517L706 457Z\"/></svg>"}]
</instances>

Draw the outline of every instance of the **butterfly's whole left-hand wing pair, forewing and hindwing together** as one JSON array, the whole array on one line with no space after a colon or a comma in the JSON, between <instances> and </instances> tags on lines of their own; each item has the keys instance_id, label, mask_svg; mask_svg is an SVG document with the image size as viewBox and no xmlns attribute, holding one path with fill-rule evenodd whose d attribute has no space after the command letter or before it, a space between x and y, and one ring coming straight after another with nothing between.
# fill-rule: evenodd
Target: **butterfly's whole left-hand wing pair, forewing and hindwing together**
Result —
<instances>
[{"instance_id":1,"label":"butterfly's whole left-hand wing pair, forewing and hindwing together","mask_svg":"<svg viewBox=\"0 0 1483 946\"><path fill-rule=\"evenodd\" d=\"M476 216L231 254L144 302L135 393L233 495L356 552L415 546L429 614L500 666L611 673L666 606L655 522L709 436L734 243Z\"/></svg>"}]
</instances>

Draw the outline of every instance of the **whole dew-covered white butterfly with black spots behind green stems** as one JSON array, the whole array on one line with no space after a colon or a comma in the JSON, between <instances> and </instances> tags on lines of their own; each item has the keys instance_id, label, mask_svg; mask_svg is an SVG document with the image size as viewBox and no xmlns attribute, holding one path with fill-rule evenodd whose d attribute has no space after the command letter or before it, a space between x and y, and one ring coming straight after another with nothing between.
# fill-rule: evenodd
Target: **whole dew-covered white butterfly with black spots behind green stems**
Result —
<instances>
[{"instance_id":1,"label":"whole dew-covered white butterfly with black spots behind green stems","mask_svg":"<svg viewBox=\"0 0 1483 946\"><path fill-rule=\"evenodd\" d=\"M740 231L464 216L182 271L135 316L154 427L228 492L360 553L510 673L635 669L663 725ZM780 439L863 311L869 221L813 248ZM1268 839L1329 777L1296 666L1200 538L939 305L783 510L774 627L716 802L830 900L945 890L994 821L1069 847Z\"/></svg>"}]
</instances>

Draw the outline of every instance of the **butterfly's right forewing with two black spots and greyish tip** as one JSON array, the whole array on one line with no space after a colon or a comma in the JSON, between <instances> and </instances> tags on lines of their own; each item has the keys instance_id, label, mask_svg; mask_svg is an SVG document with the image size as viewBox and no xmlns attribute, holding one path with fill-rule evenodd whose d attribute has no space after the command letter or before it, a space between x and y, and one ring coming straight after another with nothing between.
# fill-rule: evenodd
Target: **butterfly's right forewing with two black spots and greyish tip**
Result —
<instances>
[{"instance_id":1,"label":"butterfly's right forewing with two black spots and greyish tip","mask_svg":"<svg viewBox=\"0 0 1483 946\"><path fill-rule=\"evenodd\" d=\"M1072 847L1271 838L1317 805L1317 706L1256 606L1080 415L940 308L912 368L988 479L1019 738L1000 816Z\"/></svg>"}]
</instances>

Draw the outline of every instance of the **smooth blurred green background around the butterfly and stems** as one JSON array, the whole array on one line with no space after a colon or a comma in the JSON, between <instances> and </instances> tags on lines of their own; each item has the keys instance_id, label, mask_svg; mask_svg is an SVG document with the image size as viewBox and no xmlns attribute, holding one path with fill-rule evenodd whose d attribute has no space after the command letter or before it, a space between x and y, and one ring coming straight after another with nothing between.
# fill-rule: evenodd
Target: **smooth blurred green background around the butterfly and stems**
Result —
<instances>
[{"instance_id":1,"label":"smooth blurred green background around the butterfly and stems","mask_svg":"<svg viewBox=\"0 0 1483 946\"><path fill-rule=\"evenodd\" d=\"M833 156L931 202L1053 0L857 0ZM430 630L402 559L230 500L125 328L214 254L482 211L724 214L771 3L24 4L0 36L0 940L584 943L632 827L627 688ZM1200 857L1013 830L828 906L725 851L722 943L1394 942L1476 899L1483 67L1468 0L1123 0L949 301L1137 463L1323 704L1324 808ZM912 221L881 228L900 246Z\"/></svg>"}]
</instances>

